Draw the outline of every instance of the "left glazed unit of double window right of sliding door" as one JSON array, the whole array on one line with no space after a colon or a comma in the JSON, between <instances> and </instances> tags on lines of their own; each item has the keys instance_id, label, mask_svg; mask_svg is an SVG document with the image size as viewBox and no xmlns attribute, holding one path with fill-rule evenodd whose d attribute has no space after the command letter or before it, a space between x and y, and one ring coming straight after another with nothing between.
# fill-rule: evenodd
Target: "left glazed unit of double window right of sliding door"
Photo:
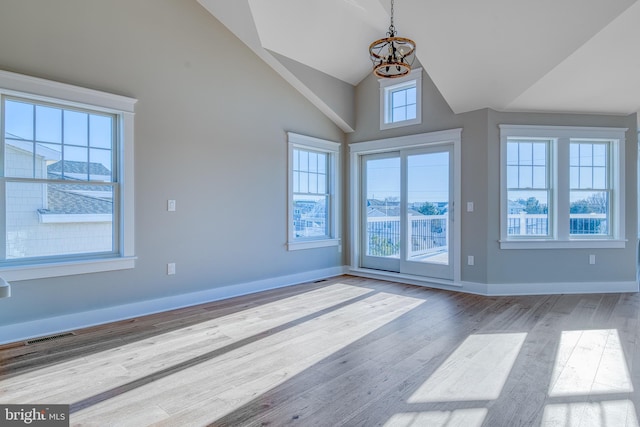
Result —
<instances>
[{"instance_id":1,"label":"left glazed unit of double window right of sliding door","mask_svg":"<svg viewBox=\"0 0 640 427\"><path fill-rule=\"evenodd\" d=\"M507 141L507 203L509 236L548 237L548 140L509 138Z\"/></svg>"}]
</instances>

